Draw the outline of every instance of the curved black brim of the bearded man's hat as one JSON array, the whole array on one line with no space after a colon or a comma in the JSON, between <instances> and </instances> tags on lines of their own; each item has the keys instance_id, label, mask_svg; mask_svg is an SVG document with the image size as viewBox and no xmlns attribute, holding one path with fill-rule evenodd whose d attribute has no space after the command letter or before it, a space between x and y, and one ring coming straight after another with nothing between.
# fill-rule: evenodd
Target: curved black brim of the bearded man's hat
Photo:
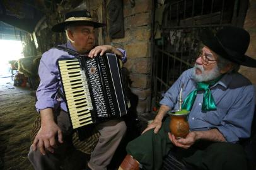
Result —
<instances>
[{"instance_id":1,"label":"curved black brim of the bearded man's hat","mask_svg":"<svg viewBox=\"0 0 256 170\"><path fill-rule=\"evenodd\" d=\"M204 43L204 45L209 47L216 54L221 55L221 57L240 65L256 67L255 59L252 59L251 57L248 57L244 54L236 54L235 52L228 50L228 48L223 47L223 45L219 43L218 38L214 37L211 31L202 31L202 33L199 35L199 38L201 39L202 43Z\"/></svg>"}]
</instances>

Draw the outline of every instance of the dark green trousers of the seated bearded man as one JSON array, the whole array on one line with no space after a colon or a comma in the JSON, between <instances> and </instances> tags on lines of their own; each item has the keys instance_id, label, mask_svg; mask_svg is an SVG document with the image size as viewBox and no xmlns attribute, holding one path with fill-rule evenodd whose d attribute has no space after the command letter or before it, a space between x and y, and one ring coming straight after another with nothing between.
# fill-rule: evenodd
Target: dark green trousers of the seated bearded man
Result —
<instances>
[{"instance_id":1,"label":"dark green trousers of the seated bearded man","mask_svg":"<svg viewBox=\"0 0 256 170\"><path fill-rule=\"evenodd\" d=\"M199 141L189 149L176 147L168 138L169 122L170 119L166 118L157 134L149 130L127 145L128 154L139 161L143 169L161 169L163 159L170 150L194 169L247 169L245 152L238 144Z\"/></svg>"}]
</instances>

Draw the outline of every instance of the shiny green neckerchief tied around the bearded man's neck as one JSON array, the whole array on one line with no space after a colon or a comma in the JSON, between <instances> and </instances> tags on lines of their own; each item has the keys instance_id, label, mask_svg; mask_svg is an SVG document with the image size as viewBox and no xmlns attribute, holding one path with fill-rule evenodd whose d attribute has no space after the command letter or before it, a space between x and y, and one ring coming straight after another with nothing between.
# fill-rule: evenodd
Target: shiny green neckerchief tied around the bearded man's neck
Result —
<instances>
[{"instance_id":1,"label":"shiny green neckerchief tied around the bearded man's neck","mask_svg":"<svg viewBox=\"0 0 256 170\"><path fill-rule=\"evenodd\" d=\"M192 106L194 105L195 97L197 96L197 91L204 91L204 98L202 102L202 110L209 111L209 110L216 110L216 104L214 98L211 94L210 86L213 86L218 82L223 75L219 76L218 78L214 79L210 82L197 82L197 89L194 89L187 98L182 103L182 109L191 110Z\"/></svg>"}]
</instances>

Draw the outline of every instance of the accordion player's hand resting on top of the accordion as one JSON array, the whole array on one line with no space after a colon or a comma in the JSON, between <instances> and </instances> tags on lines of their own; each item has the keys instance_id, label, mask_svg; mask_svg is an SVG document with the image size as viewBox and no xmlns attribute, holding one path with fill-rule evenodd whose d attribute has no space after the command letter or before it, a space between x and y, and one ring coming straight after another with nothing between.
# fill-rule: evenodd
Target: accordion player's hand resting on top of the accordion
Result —
<instances>
[{"instance_id":1,"label":"accordion player's hand resting on top of the accordion","mask_svg":"<svg viewBox=\"0 0 256 170\"><path fill-rule=\"evenodd\" d=\"M123 57L122 52L120 52L117 48L112 47L111 45L100 45L93 48L88 57L93 58L96 57L98 54L103 55L105 52L114 53L117 56Z\"/></svg>"}]
</instances>

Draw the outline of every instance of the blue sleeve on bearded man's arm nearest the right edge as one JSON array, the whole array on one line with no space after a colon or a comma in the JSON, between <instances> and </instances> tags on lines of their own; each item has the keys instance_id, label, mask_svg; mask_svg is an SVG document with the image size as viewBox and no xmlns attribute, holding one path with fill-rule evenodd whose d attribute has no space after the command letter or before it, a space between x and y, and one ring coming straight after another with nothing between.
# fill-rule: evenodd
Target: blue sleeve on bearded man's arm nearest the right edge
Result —
<instances>
[{"instance_id":1,"label":"blue sleeve on bearded man's arm nearest the right edge","mask_svg":"<svg viewBox=\"0 0 256 170\"><path fill-rule=\"evenodd\" d=\"M221 125L216 127L230 143L250 137L251 132L255 109L255 90L252 86L248 86L239 96L241 97L235 101L223 118Z\"/></svg>"}]
</instances>

